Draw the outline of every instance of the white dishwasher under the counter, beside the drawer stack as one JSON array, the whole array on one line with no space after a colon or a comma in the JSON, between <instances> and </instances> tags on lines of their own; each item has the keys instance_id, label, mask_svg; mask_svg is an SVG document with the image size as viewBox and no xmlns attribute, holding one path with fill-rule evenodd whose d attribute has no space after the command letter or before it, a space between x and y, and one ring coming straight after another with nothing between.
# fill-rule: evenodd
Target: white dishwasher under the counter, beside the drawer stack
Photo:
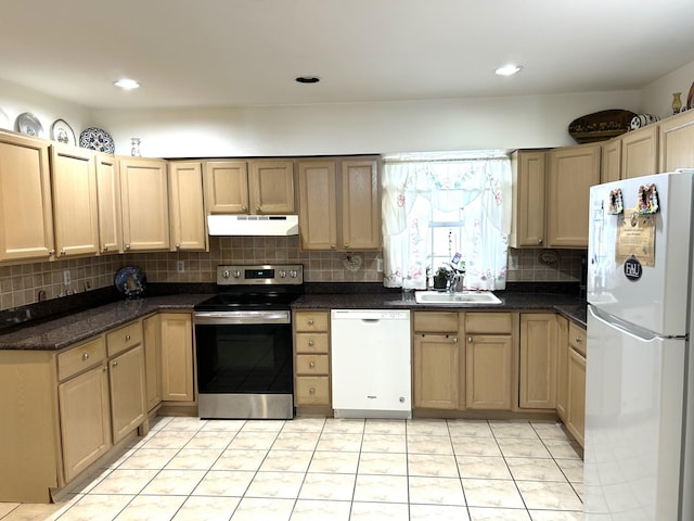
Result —
<instances>
[{"instance_id":1,"label":"white dishwasher under the counter, beside the drawer stack","mask_svg":"<svg viewBox=\"0 0 694 521\"><path fill-rule=\"evenodd\" d=\"M333 309L336 418L411 418L410 312Z\"/></svg>"}]
</instances>

